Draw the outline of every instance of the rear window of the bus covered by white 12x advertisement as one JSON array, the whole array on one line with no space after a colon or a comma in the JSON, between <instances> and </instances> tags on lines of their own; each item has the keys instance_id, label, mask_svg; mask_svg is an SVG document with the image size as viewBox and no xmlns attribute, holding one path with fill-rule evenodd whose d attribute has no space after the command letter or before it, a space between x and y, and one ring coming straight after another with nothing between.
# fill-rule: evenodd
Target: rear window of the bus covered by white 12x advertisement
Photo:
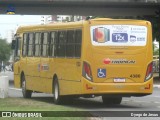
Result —
<instances>
[{"instance_id":1,"label":"rear window of the bus covered by white 12x advertisement","mask_svg":"<svg viewBox=\"0 0 160 120\"><path fill-rule=\"evenodd\" d=\"M138 25L91 26L91 40L95 46L145 46L147 27Z\"/></svg>"}]
</instances>

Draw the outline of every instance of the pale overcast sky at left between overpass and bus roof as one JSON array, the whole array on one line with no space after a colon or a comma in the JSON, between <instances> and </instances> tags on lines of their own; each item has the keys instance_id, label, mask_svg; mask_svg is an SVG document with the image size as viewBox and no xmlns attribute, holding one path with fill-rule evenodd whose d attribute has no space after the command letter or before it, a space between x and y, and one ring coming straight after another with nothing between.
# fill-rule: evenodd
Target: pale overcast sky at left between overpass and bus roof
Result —
<instances>
[{"instance_id":1,"label":"pale overcast sky at left between overpass and bus roof","mask_svg":"<svg viewBox=\"0 0 160 120\"><path fill-rule=\"evenodd\" d=\"M0 15L0 37L6 38L7 31L20 25L41 24L43 15Z\"/></svg>"}]
</instances>

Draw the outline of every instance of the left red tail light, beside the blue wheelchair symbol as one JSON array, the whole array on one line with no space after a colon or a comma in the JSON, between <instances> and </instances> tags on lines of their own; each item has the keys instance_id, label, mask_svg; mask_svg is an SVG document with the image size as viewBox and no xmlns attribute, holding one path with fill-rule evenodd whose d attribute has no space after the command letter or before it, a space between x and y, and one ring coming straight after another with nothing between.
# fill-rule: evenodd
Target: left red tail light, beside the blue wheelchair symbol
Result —
<instances>
[{"instance_id":1,"label":"left red tail light, beside the blue wheelchair symbol","mask_svg":"<svg viewBox=\"0 0 160 120\"><path fill-rule=\"evenodd\" d=\"M87 62L83 62L82 74L84 78L88 79L89 81L92 81L91 67Z\"/></svg>"}]
</instances>

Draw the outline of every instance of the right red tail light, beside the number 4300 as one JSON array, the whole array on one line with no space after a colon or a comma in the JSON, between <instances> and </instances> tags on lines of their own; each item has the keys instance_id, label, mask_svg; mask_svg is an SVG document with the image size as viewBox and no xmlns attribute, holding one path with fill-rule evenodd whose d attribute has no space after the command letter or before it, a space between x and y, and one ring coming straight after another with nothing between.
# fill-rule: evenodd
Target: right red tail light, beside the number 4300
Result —
<instances>
[{"instance_id":1,"label":"right red tail light, beside the number 4300","mask_svg":"<svg viewBox=\"0 0 160 120\"><path fill-rule=\"evenodd\" d=\"M147 67L145 81L149 80L153 76L153 63L151 62Z\"/></svg>"}]
</instances>

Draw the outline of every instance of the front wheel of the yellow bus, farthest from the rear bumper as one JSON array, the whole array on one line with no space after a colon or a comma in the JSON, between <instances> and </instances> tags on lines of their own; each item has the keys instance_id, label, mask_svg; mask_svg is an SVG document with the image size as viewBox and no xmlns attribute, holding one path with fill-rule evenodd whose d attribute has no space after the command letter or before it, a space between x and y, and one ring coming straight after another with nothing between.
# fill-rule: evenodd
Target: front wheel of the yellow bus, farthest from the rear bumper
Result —
<instances>
[{"instance_id":1,"label":"front wheel of the yellow bus, farthest from the rear bumper","mask_svg":"<svg viewBox=\"0 0 160 120\"><path fill-rule=\"evenodd\" d=\"M26 89L26 79L25 76L22 76L22 94L24 98L31 98L32 91Z\"/></svg>"}]
</instances>

